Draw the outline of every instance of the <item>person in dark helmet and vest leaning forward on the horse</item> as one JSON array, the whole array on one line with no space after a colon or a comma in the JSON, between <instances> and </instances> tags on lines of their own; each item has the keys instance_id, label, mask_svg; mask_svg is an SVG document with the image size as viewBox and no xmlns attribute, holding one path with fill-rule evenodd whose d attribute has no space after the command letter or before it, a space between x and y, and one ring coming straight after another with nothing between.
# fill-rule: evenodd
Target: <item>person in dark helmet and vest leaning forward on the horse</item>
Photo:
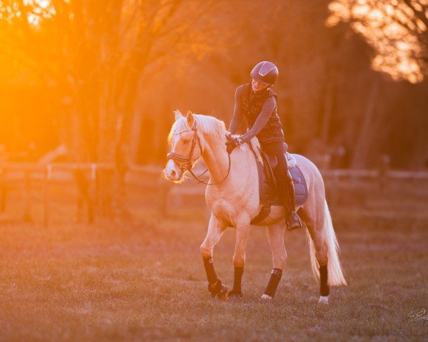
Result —
<instances>
[{"instance_id":1,"label":"person in dark helmet and vest leaning forward on the horse","mask_svg":"<svg viewBox=\"0 0 428 342\"><path fill-rule=\"evenodd\" d=\"M274 63L263 61L251 71L251 83L239 86L235 93L235 109L230 122L229 132L235 134L245 117L248 123L247 133L233 135L226 144L228 152L243 142L249 142L257 136L263 150L277 157L275 178L282 202L287 211L288 229L302 227L302 222L295 212L295 194L292 177L287 167L285 152L287 145L284 141L284 132L280 117L277 114L277 95L270 89L278 78L278 69Z\"/></svg>"}]
</instances>

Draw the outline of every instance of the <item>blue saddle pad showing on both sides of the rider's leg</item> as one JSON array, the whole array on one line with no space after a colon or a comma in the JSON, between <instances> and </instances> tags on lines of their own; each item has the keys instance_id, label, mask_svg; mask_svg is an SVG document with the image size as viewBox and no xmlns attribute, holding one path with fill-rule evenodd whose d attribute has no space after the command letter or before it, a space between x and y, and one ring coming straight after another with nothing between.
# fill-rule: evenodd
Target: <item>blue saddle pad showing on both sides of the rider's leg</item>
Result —
<instances>
[{"instance_id":1,"label":"blue saddle pad showing on both sides of the rider's leg","mask_svg":"<svg viewBox=\"0 0 428 342\"><path fill-rule=\"evenodd\" d=\"M267 176L265 167L257 162L257 170L259 177L260 199L265 204L283 205L280 196L277 193L276 185ZM295 204L300 207L307 199L307 184L302 171L297 167L288 169L291 173L292 182L295 187Z\"/></svg>"}]
</instances>

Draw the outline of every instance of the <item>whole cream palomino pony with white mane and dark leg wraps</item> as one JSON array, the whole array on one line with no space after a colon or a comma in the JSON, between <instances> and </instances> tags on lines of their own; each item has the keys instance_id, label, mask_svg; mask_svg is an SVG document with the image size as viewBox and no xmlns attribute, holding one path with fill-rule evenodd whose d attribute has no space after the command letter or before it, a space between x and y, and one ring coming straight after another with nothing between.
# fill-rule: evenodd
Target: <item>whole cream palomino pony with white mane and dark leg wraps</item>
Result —
<instances>
[{"instance_id":1,"label":"whole cream palomino pony with white mane and dark leg wraps","mask_svg":"<svg viewBox=\"0 0 428 342\"><path fill-rule=\"evenodd\" d=\"M250 221L258 215L260 202L258 170L255 156L248 144L236 147L228 155L225 148L225 124L212 116L183 117L175 110L175 123L168 142L171 152L164 173L168 180L180 182L186 170L200 157L210 172L205 199L211 210L208 234L200 246L200 253L208 279L208 290L213 296L242 298L241 282L245 265L245 248L250 233ZM257 138L254 138L257 140ZM329 286L346 285L338 257L339 246L333 230L330 212L325 200L325 189L317 167L301 155L294 155L307 182L308 197L299 213L307 227L310 260L315 279L320 283L319 303L328 304ZM297 208L296 208L297 209ZM258 222L267 227L267 239L272 251L273 270L263 299L275 296L277 285L285 268L287 253L284 246L285 209L272 207L270 214ZM235 227L236 243L233 265L235 279L228 293L215 274L213 249L227 227Z\"/></svg>"}]
</instances>

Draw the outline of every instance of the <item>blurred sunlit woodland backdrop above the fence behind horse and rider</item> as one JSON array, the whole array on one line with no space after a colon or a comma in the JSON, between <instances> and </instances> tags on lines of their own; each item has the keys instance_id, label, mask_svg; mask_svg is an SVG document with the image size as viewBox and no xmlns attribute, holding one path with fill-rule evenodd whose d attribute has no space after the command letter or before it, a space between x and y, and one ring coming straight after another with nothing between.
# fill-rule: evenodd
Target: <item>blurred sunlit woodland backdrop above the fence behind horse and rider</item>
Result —
<instances>
[{"instance_id":1,"label":"blurred sunlit woodland backdrop above the fence behind horse and rider","mask_svg":"<svg viewBox=\"0 0 428 342\"><path fill-rule=\"evenodd\" d=\"M173 109L228 123L235 87L270 60L293 152L422 169L426 2L2 0L0 144L162 162Z\"/></svg>"}]
</instances>

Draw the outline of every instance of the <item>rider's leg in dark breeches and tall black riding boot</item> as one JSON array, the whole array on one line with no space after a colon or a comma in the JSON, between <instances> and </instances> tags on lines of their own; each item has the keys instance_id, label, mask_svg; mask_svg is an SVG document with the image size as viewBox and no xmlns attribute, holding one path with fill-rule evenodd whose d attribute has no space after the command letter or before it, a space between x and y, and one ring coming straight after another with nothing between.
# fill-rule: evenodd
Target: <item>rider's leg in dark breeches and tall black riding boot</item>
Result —
<instances>
[{"instance_id":1,"label":"rider's leg in dark breeches and tall black riding boot","mask_svg":"<svg viewBox=\"0 0 428 342\"><path fill-rule=\"evenodd\" d=\"M294 185L292 184L291 174L288 171L284 144L283 142L271 142L264 144L263 149L270 155L277 157L278 165L275 169L275 178L277 188L287 211L288 230L300 228L302 227L302 221L300 221L297 212L295 212Z\"/></svg>"}]
</instances>

